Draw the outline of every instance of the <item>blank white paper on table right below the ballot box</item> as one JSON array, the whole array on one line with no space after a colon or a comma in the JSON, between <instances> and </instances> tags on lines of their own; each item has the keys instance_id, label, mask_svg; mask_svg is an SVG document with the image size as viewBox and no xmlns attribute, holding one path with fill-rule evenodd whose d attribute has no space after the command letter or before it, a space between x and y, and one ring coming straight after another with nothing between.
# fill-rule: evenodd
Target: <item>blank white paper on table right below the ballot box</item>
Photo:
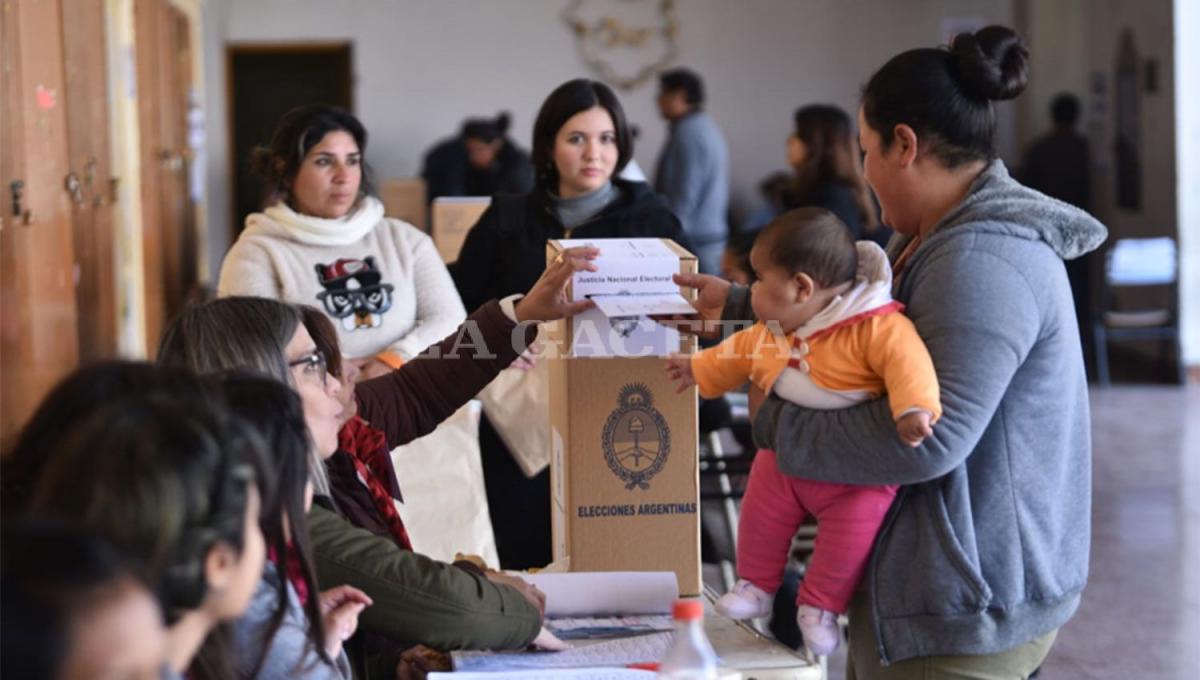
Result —
<instances>
[{"instance_id":1,"label":"blank white paper on table right below the ballot box","mask_svg":"<svg viewBox=\"0 0 1200 680\"><path fill-rule=\"evenodd\" d=\"M546 616L670 614L679 597L672 571L522 573L546 594Z\"/></svg>"}]
</instances>

